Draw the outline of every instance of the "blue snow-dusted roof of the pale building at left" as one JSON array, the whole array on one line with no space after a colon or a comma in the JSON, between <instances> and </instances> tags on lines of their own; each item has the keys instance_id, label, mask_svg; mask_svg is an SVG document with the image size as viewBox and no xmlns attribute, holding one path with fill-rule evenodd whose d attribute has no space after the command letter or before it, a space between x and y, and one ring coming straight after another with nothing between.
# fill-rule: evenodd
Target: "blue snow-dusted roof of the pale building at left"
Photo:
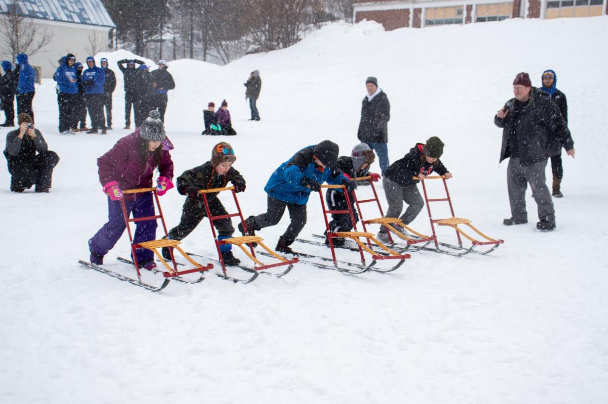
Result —
<instances>
[{"instance_id":1,"label":"blue snow-dusted roof of the pale building at left","mask_svg":"<svg viewBox=\"0 0 608 404\"><path fill-rule=\"evenodd\" d=\"M101 0L18 0L19 10L30 18L75 24L114 27ZM0 13L7 13L13 0L0 0Z\"/></svg>"}]
</instances>

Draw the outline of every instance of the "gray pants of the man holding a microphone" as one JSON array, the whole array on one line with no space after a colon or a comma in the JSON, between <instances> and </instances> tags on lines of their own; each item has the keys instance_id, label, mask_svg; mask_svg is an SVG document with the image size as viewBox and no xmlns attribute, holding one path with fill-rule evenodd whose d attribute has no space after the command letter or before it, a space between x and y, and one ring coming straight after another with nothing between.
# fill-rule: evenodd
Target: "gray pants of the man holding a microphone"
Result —
<instances>
[{"instance_id":1,"label":"gray pants of the man holding a microphone","mask_svg":"<svg viewBox=\"0 0 608 404\"><path fill-rule=\"evenodd\" d=\"M545 178L546 167L546 159L531 166L522 166L519 164L519 158L509 158L509 165L506 169L506 184L509 190L512 217L517 219L528 218L525 197L528 183L530 183L532 197L538 206L539 220L555 221L553 200L551 200L551 192Z\"/></svg>"}]
</instances>

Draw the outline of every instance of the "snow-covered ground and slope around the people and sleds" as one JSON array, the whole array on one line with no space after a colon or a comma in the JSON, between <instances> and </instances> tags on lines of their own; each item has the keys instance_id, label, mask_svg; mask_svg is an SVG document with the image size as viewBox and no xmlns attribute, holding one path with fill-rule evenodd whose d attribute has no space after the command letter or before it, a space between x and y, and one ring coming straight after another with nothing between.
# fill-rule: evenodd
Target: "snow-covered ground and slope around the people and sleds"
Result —
<instances>
[{"instance_id":1,"label":"snow-covered ground and slope around the people and sleds","mask_svg":"<svg viewBox=\"0 0 608 404\"><path fill-rule=\"evenodd\" d=\"M61 157L53 188L12 194L8 173L0 176L0 402L605 403L607 23L605 16L517 19L393 32L373 22L334 24L289 49L224 67L171 62L177 88L167 132L176 175L209 160L218 138L199 135L201 111L227 99L239 134L226 140L247 180L239 195L246 215L265 209L266 180L301 147L331 139L350 153L369 75L392 106L391 161L440 136L456 214L505 244L489 256L418 252L390 275L299 264L285 278L243 285L210 276L153 294L83 269L76 261L88 258L86 240L107 214L96 158L128 133L119 129L115 61L130 54L97 55L119 77L115 129L106 136L59 136L54 82L44 81L34 109ZM539 85L548 68L568 97L577 153L562 155L558 229L541 233L530 195L530 223L502 225L510 214L506 164L498 164L501 130L492 117L511 98L517 73ZM247 121L241 84L254 69L263 79L260 122ZM178 223L183 201L175 190L162 197L168 226ZM323 231L319 205L313 195L303 237ZM287 216L260 232L271 247ZM429 232L425 211L413 227ZM184 245L213 256L209 224ZM329 255L324 247L297 249ZM128 254L125 234L108 267L123 268L113 258Z\"/></svg>"}]
</instances>

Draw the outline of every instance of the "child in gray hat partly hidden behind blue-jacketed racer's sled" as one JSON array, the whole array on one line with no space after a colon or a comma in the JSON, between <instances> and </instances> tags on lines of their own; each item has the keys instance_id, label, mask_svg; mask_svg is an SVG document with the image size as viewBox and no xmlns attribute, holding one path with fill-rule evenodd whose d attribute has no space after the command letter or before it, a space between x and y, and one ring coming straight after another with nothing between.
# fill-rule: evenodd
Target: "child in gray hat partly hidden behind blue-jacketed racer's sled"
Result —
<instances>
[{"instance_id":1,"label":"child in gray hat partly hidden behind blue-jacketed racer's sled","mask_svg":"<svg viewBox=\"0 0 608 404\"><path fill-rule=\"evenodd\" d=\"M365 170L374 162L376 156L374 151L365 143L360 143L353 147L353 151L350 156L340 156L337 160L337 168L340 169L344 176L350 180L356 180L356 173L360 170ZM380 175L378 173L369 173L372 181L378 181ZM350 192L348 194L351 207L353 208L354 221L359 221L359 214L357 213L356 206L354 204L354 194ZM325 201L327 203L328 210L348 210L348 203L344 195L344 190L331 188L328 189L325 194ZM350 232L353 229L353 221L349 214L331 214L331 221L329 223L330 232ZM325 232L325 244L330 244L330 240L327 238L327 232ZM342 237L334 237L333 244L336 247L344 246L346 240Z\"/></svg>"}]
</instances>

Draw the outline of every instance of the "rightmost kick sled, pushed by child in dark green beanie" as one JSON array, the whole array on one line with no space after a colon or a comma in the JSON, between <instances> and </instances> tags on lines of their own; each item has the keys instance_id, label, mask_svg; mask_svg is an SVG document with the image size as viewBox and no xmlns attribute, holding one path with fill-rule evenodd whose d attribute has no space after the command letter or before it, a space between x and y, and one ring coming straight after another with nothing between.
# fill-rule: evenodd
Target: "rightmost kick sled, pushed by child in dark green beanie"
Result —
<instances>
[{"instance_id":1,"label":"rightmost kick sled, pushed by child in dark green beanie","mask_svg":"<svg viewBox=\"0 0 608 404\"><path fill-rule=\"evenodd\" d=\"M412 179L418 180L418 177L412 177ZM438 179L443 181L443 187L446 190L446 197L431 199L431 198L429 198L429 195L427 194L425 182L426 182L426 180L438 180ZM500 246L500 244L505 242L504 240L495 240L494 238L488 237L487 235L483 234L475 226L473 226L471 224L471 220L463 219L460 217L455 217L454 207L452 206L452 200L450 198L450 193L449 193L449 190L447 190L446 177L444 177L443 175L432 175L432 176L424 178L424 180L422 180L420 182L422 183L422 189L424 192L424 200L426 201L426 208L427 208L427 211L429 212L430 228L433 232L433 236L435 237L435 239L434 239L435 248L433 249L435 252L440 252L441 254L454 255L457 257L468 254L469 252L473 252L475 254L488 254L489 252L497 249ZM445 201L447 201L447 203L450 206L450 212L452 213L452 217L444 218L444 219L434 219L432 213L430 212L430 203L431 202L445 202ZM456 231L458 245L449 244L449 243L440 243L437 240L437 234L435 234L435 224L437 224L438 226L452 227L452 229L454 229ZM473 236L467 234L461 227L458 227L460 224L468 226L470 230L477 233L477 235L480 236L481 238L483 238L484 240L478 240L477 238L474 238ZM467 240L471 241L471 246L468 248L463 247L462 239L460 236L463 236ZM491 246L491 247L484 251L478 251L478 250L475 250L475 247L477 247L477 246ZM441 247L446 247L447 250L441 249Z\"/></svg>"}]
</instances>

